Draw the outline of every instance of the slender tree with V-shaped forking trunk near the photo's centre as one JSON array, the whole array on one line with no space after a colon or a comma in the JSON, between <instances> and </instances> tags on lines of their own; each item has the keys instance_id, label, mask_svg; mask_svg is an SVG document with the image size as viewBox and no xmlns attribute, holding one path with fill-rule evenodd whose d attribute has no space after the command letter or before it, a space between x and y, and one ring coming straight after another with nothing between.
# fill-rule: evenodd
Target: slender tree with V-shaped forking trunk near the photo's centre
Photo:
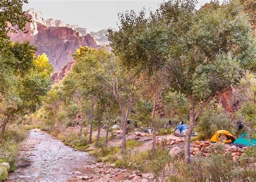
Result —
<instances>
[{"instance_id":1,"label":"slender tree with V-shaped forking trunk near the photo's centre","mask_svg":"<svg viewBox=\"0 0 256 182\"><path fill-rule=\"evenodd\" d=\"M123 69L113 54L109 55L109 59L103 59L99 62L98 69L99 78L112 90L112 94L119 104L120 111L123 116L122 124L122 149L126 149L126 123L136 94L141 88L145 79L145 74L137 74L136 71L129 72Z\"/></svg>"}]
</instances>

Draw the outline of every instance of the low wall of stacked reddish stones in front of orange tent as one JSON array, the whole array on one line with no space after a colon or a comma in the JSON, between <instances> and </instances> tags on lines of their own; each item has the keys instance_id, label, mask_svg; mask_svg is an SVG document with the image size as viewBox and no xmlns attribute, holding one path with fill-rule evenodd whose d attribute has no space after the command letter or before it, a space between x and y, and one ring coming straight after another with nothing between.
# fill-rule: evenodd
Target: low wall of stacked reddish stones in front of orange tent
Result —
<instances>
[{"instance_id":1,"label":"low wall of stacked reddish stones in front of orange tent","mask_svg":"<svg viewBox=\"0 0 256 182\"><path fill-rule=\"evenodd\" d=\"M190 149L191 155L202 155L204 157L210 157L211 153L220 153L218 148L224 149L226 156L230 155L234 161L237 161L239 157L244 153L246 150L249 150L248 147L239 148L235 145L228 145L223 143L211 143L209 141L196 141L192 144Z\"/></svg>"}]
</instances>

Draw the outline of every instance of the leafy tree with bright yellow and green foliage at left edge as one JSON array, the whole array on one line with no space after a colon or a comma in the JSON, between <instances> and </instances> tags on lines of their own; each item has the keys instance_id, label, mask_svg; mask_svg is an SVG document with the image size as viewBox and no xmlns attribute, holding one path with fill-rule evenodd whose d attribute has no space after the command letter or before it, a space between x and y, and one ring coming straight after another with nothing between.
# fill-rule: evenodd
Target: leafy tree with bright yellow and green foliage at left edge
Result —
<instances>
[{"instance_id":1,"label":"leafy tree with bright yellow and green foliage at left edge","mask_svg":"<svg viewBox=\"0 0 256 182\"><path fill-rule=\"evenodd\" d=\"M0 56L2 135L6 124L16 116L35 111L41 104L39 97L50 88L52 67L48 59L44 66L39 66L35 51L36 48L28 43L14 43L9 46L7 55Z\"/></svg>"}]
</instances>

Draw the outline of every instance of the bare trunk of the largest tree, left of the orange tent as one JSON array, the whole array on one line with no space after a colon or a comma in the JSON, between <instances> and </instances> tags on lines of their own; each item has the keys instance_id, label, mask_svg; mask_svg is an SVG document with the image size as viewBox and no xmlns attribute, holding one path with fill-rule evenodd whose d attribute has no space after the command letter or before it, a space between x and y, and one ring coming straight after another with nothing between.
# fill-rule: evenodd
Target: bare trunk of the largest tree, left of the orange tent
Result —
<instances>
[{"instance_id":1,"label":"bare trunk of the largest tree, left of the orange tent","mask_svg":"<svg viewBox=\"0 0 256 182\"><path fill-rule=\"evenodd\" d=\"M185 162L190 163L190 138L194 128L194 100L190 98L190 124L185 139Z\"/></svg>"}]
</instances>

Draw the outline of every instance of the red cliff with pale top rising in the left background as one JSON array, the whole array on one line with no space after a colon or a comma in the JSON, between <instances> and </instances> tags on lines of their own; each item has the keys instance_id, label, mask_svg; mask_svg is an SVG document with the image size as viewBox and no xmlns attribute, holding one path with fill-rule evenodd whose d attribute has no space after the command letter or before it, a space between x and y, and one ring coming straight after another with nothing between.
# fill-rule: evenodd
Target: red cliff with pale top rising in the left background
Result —
<instances>
[{"instance_id":1,"label":"red cliff with pale top rising in the left background","mask_svg":"<svg viewBox=\"0 0 256 182\"><path fill-rule=\"evenodd\" d=\"M41 12L30 9L25 12L32 22L26 24L28 33L10 33L12 41L29 41L37 47L37 55L46 53L55 71L73 61L72 53L79 46L99 48L95 39L86 34L86 29L55 19L44 19ZM79 31L79 32L78 32ZM82 36L84 34L84 36Z\"/></svg>"}]
</instances>

